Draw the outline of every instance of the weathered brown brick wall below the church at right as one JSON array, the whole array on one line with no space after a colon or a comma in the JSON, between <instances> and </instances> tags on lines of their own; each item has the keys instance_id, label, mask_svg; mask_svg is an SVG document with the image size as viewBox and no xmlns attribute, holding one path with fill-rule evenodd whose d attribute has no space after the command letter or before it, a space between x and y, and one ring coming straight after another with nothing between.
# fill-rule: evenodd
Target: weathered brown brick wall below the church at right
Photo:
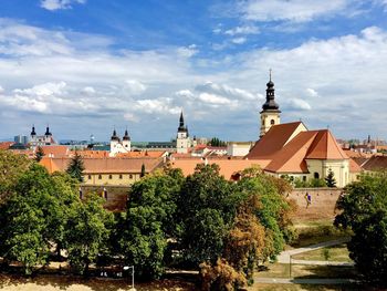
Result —
<instances>
[{"instance_id":1,"label":"weathered brown brick wall below the church at right","mask_svg":"<svg viewBox=\"0 0 387 291\"><path fill-rule=\"evenodd\" d=\"M311 195L310 205L306 201L306 193ZM341 188L296 188L287 198L294 199L297 205L295 219L334 219L335 205L341 193Z\"/></svg>"}]
</instances>

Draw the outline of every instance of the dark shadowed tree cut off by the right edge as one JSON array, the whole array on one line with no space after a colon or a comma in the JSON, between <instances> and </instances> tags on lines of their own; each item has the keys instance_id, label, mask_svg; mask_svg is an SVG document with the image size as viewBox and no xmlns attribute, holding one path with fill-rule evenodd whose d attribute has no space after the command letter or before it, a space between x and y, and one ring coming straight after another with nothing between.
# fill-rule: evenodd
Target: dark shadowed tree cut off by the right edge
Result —
<instances>
[{"instance_id":1,"label":"dark shadowed tree cut off by the right edge","mask_svg":"<svg viewBox=\"0 0 387 291\"><path fill-rule=\"evenodd\" d=\"M354 232L349 257L367 280L387 285L387 173L362 175L344 188L336 208L338 227Z\"/></svg>"}]
</instances>

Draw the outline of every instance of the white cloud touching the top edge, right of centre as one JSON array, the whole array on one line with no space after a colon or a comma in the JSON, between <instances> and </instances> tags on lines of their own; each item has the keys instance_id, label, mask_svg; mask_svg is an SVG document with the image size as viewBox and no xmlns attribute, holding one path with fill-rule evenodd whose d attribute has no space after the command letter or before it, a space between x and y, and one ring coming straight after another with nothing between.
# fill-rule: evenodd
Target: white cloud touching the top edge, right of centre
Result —
<instances>
[{"instance_id":1,"label":"white cloud touching the top edge, right of centre","mask_svg":"<svg viewBox=\"0 0 387 291\"><path fill-rule=\"evenodd\" d=\"M304 22L342 12L348 3L348 0L245 0L239 3L239 9L247 20Z\"/></svg>"}]
</instances>

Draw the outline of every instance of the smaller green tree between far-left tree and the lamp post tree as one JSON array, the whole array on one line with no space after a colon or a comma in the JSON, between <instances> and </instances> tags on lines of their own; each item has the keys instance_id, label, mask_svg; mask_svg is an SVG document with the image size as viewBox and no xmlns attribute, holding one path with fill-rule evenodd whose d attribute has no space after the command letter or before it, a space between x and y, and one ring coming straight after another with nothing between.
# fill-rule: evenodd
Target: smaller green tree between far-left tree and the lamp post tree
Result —
<instances>
[{"instance_id":1,"label":"smaller green tree between far-left tree and the lamp post tree","mask_svg":"<svg viewBox=\"0 0 387 291\"><path fill-rule=\"evenodd\" d=\"M91 263L107 248L113 214L103 208L104 199L87 195L84 202L71 209L66 221L64 240L72 269L81 274L88 273Z\"/></svg>"}]
</instances>

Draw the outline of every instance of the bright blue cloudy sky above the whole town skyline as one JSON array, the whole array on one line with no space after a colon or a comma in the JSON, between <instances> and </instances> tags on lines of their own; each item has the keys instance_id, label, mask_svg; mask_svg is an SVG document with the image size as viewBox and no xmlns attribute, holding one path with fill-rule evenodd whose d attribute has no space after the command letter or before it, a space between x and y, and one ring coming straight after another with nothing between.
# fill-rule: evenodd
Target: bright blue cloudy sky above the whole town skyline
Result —
<instances>
[{"instance_id":1,"label":"bright blue cloudy sky above the whole town skyline","mask_svg":"<svg viewBox=\"0 0 387 291\"><path fill-rule=\"evenodd\" d=\"M282 123L387 139L387 0L1 0L0 139L255 141Z\"/></svg>"}]
</instances>

